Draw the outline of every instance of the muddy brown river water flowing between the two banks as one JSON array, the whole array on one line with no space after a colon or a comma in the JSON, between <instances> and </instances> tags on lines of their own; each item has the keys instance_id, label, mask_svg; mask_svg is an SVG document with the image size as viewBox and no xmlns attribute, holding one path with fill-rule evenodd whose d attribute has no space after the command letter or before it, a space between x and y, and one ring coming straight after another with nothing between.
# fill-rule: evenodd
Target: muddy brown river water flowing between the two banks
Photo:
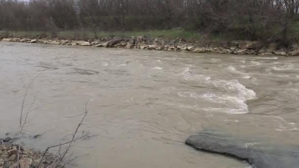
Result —
<instances>
[{"instance_id":1,"label":"muddy brown river water flowing between the two banks","mask_svg":"<svg viewBox=\"0 0 299 168\"><path fill-rule=\"evenodd\" d=\"M88 102L83 129L97 136L75 144L72 167L248 167L184 144L206 128L299 145L299 57L0 42L0 137L19 130L31 82L25 130L46 133L29 147L71 134Z\"/></svg>"}]
</instances>

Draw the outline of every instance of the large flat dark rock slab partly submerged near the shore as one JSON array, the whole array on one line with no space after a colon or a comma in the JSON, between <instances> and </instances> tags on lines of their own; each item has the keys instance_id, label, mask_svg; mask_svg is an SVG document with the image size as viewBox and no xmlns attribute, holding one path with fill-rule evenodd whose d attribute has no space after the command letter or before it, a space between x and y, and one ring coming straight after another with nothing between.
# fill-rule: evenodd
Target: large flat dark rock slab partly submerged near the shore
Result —
<instances>
[{"instance_id":1,"label":"large flat dark rock slab partly submerged near the shore","mask_svg":"<svg viewBox=\"0 0 299 168\"><path fill-rule=\"evenodd\" d=\"M185 143L197 150L248 162L252 168L299 168L299 147L256 142L212 131L190 136Z\"/></svg>"}]
</instances>

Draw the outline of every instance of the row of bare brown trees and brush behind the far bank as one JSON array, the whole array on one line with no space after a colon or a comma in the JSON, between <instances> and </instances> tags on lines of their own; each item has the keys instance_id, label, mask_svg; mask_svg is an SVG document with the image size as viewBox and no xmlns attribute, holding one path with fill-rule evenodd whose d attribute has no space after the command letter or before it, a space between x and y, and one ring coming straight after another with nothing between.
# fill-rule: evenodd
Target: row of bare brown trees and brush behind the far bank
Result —
<instances>
[{"instance_id":1,"label":"row of bare brown trees and brush behind the far bank","mask_svg":"<svg viewBox=\"0 0 299 168\"><path fill-rule=\"evenodd\" d=\"M0 0L0 30L172 29L287 40L299 0Z\"/></svg>"}]
</instances>

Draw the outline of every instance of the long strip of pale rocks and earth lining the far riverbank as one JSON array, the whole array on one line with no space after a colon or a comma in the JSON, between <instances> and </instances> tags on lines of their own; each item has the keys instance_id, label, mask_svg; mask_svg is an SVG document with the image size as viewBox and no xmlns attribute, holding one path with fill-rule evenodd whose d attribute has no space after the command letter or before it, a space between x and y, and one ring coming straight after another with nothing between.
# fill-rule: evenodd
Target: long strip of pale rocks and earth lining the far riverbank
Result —
<instances>
[{"instance_id":1,"label":"long strip of pale rocks and earth lining the far riverbank","mask_svg":"<svg viewBox=\"0 0 299 168\"><path fill-rule=\"evenodd\" d=\"M183 38L174 40L165 38L138 37L106 37L95 40L46 39L38 37L9 36L0 37L0 41L41 43L71 46L114 47L129 49L147 49L157 51L179 51L192 53L219 53L259 56L299 56L299 42L290 42L288 47L279 47L277 43L262 43L259 41L229 41L229 42L188 42Z\"/></svg>"}]
</instances>

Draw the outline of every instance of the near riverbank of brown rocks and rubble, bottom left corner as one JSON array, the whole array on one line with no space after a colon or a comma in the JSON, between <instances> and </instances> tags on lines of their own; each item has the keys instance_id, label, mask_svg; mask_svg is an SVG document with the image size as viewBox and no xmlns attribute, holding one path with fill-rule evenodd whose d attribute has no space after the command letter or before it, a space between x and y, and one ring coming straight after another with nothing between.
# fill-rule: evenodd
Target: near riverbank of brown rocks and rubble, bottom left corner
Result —
<instances>
[{"instance_id":1,"label":"near riverbank of brown rocks and rubble, bottom left corner","mask_svg":"<svg viewBox=\"0 0 299 168\"><path fill-rule=\"evenodd\" d=\"M3 142L2 142L3 141ZM51 153L26 149L13 144L13 139L0 139L0 168L51 168L55 167L57 156ZM42 162L40 162L42 159ZM40 163L40 164L39 164ZM18 165L19 164L19 165Z\"/></svg>"}]
</instances>

